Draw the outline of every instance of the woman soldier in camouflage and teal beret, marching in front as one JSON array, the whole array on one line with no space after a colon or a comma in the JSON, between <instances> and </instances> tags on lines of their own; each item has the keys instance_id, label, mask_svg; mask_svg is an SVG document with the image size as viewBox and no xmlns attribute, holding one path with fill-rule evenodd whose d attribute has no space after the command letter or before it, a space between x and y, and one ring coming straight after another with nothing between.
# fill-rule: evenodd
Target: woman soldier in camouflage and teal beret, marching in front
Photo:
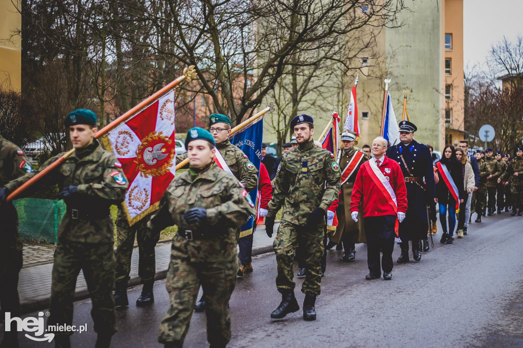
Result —
<instances>
[{"instance_id":1,"label":"woman soldier in camouflage and teal beret, marching in front","mask_svg":"<svg viewBox=\"0 0 523 348\"><path fill-rule=\"evenodd\" d=\"M163 228L178 226L165 282L170 306L158 342L183 345L201 285L207 340L211 347L224 347L231 339L228 304L238 271L236 230L255 214L254 204L244 185L214 164L215 142L208 131L190 129L185 143L190 168L169 184L149 223L151 246Z\"/></svg>"}]
</instances>

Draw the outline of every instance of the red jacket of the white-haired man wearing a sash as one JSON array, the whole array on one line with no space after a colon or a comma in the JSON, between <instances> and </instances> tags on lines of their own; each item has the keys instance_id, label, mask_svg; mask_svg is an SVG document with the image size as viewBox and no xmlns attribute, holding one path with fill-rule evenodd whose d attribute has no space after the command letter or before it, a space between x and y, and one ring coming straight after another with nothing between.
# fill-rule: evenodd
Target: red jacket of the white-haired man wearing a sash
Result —
<instances>
[{"instance_id":1,"label":"red jacket of the white-haired man wearing a sash","mask_svg":"<svg viewBox=\"0 0 523 348\"><path fill-rule=\"evenodd\" d=\"M350 211L357 212L360 204L363 204L363 217L396 215L394 209L367 171L369 162L373 160L370 159L363 163L358 171L356 181L354 182L353 195L351 196ZM405 213L407 211L407 188L400 165L386 156L383 156L382 160L383 163L379 169L385 177L389 178L392 189L396 194L397 211Z\"/></svg>"}]
</instances>

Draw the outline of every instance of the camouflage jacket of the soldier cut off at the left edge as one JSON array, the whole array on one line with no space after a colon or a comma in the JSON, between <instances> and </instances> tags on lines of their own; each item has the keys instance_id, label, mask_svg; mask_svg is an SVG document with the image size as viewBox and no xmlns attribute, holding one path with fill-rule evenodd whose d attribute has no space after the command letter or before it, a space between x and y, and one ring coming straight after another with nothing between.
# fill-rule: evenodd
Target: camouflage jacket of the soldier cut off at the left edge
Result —
<instances>
[{"instance_id":1,"label":"camouflage jacket of the soldier cut off at the left edge","mask_svg":"<svg viewBox=\"0 0 523 348\"><path fill-rule=\"evenodd\" d=\"M24 152L0 135L0 188L10 180L22 177L32 171L31 164ZM2 224L2 230L5 231L0 237L2 238L0 250L22 250L22 243L18 236L18 218L13 203L7 202L3 207L0 207L0 224Z\"/></svg>"}]
</instances>

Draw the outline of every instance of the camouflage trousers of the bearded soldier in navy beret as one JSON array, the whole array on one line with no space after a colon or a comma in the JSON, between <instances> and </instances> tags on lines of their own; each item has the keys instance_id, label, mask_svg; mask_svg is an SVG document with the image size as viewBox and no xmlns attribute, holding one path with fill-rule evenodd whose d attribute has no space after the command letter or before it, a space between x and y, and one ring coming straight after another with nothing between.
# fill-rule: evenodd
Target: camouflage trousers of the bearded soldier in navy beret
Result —
<instances>
[{"instance_id":1,"label":"camouflage trousers of the bearded soldier in navy beret","mask_svg":"<svg viewBox=\"0 0 523 348\"><path fill-rule=\"evenodd\" d=\"M324 252L323 237L325 226L316 226L305 229L303 226L286 221L280 223L278 234L274 239L273 247L278 264L276 287L280 289L294 289L294 271L292 257L299 245L305 266L305 280L301 286L303 293L311 292L320 295L321 292L321 265L320 259Z\"/></svg>"}]
</instances>

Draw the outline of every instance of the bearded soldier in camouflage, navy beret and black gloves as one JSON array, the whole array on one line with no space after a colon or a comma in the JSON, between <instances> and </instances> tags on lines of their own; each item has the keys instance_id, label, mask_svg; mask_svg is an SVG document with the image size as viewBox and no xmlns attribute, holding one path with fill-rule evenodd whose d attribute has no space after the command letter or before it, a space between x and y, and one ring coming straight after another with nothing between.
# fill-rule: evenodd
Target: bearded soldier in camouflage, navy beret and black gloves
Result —
<instances>
[{"instance_id":1,"label":"bearded soldier in camouflage, navy beret and black gloves","mask_svg":"<svg viewBox=\"0 0 523 348\"><path fill-rule=\"evenodd\" d=\"M314 146L313 119L299 115L292 119L291 130L298 147L283 154L273 183L274 191L265 219L269 236L274 229L276 212L283 206L274 250L278 263L276 286L281 293L281 303L271 313L271 318L283 318L300 309L294 297L295 283L292 257L299 244L305 258L305 281L301 291L305 293L303 319L315 320L314 304L320 295L323 235L326 211L338 198L340 170L333 154Z\"/></svg>"}]
</instances>

